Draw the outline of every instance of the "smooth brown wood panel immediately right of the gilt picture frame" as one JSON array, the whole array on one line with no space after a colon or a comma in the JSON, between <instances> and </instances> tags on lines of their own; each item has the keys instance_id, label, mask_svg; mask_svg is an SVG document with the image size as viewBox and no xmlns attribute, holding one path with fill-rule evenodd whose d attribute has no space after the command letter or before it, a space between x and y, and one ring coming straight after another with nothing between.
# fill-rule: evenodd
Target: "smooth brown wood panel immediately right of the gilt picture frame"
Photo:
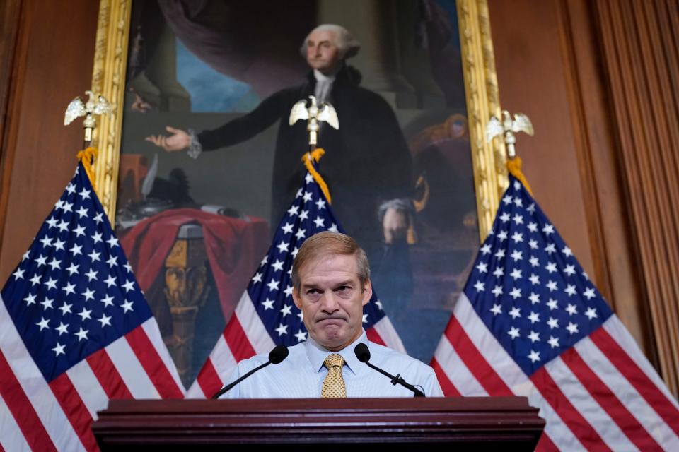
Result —
<instances>
[{"instance_id":1,"label":"smooth brown wood panel immediately right of the gilt picture frame","mask_svg":"<svg viewBox=\"0 0 679 452\"><path fill-rule=\"evenodd\" d=\"M517 153L535 198L585 270L596 274L564 73L557 0L489 0L501 107L528 114Z\"/></svg>"}]
</instances>

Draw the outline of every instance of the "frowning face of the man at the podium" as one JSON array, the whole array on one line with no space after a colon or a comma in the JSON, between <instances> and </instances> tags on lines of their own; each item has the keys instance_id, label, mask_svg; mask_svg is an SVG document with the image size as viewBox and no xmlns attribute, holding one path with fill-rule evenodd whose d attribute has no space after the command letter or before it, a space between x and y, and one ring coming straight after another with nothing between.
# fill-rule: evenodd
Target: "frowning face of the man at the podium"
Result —
<instances>
[{"instance_id":1,"label":"frowning face of the man at the podium","mask_svg":"<svg viewBox=\"0 0 679 452\"><path fill-rule=\"evenodd\" d=\"M356 273L356 258L335 254L309 261L299 273L300 290L293 290L309 335L327 350L337 352L361 335L363 307L373 295Z\"/></svg>"}]
</instances>

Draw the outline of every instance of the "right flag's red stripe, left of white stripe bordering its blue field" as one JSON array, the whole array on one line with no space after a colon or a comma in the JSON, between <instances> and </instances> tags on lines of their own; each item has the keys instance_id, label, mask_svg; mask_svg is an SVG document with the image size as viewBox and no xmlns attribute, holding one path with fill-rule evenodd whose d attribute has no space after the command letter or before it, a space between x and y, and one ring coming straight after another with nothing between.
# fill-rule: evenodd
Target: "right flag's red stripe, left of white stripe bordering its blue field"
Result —
<instances>
[{"instance_id":1,"label":"right flag's red stripe, left of white stripe bordering its blue field","mask_svg":"<svg viewBox=\"0 0 679 452\"><path fill-rule=\"evenodd\" d=\"M455 352L489 396L513 396L509 387L481 355L455 316L448 322L445 334Z\"/></svg>"}]
</instances>

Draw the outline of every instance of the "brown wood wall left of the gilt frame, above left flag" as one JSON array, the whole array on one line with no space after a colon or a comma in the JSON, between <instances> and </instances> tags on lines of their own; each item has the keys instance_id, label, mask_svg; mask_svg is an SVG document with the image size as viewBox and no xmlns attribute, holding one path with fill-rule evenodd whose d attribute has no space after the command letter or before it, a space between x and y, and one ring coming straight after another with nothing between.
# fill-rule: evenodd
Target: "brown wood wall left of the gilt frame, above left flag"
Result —
<instances>
[{"instance_id":1,"label":"brown wood wall left of the gilt frame, above left flag","mask_svg":"<svg viewBox=\"0 0 679 452\"><path fill-rule=\"evenodd\" d=\"M11 174L0 280L5 281L33 234L62 194L82 145L79 121L63 126L66 105L91 85L98 2L31 0L21 3L18 78L3 143L4 173Z\"/></svg>"}]
</instances>

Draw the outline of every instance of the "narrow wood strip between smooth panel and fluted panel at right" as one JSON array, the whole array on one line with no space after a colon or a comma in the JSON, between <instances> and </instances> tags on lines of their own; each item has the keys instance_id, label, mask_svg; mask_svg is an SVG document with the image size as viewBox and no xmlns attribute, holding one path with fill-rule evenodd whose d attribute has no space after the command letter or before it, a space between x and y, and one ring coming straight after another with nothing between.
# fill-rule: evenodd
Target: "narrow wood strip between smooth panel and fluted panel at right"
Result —
<instances>
[{"instance_id":1,"label":"narrow wood strip between smooth panel and fluted panel at right","mask_svg":"<svg viewBox=\"0 0 679 452\"><path fill-rule=\"evenodd\" d=\"M595 281L642 350L657 364L591 3L569 0L560 1L559 6Z\"/></svg>"}]
</instances>

